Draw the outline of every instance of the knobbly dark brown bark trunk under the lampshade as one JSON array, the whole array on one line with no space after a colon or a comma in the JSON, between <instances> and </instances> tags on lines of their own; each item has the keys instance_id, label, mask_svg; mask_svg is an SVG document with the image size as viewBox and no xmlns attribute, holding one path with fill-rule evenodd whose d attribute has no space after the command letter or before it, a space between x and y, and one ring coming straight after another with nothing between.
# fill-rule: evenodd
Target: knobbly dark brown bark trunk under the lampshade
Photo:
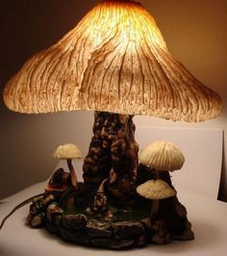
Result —
<instances>
[{"instance_id":1,"label":"knobbly dark brown bark trunk under the lampshade","mask_svg":"<svg viewBox=\"0 0 227 256\"><path fill-rule=\"evenodd\" d=\"M132 115L95 112L93 138L83 166L85 183L98 187L108 178L107 190L128 197L136 190L139 145Z\"/></svg>"}]
</instances>

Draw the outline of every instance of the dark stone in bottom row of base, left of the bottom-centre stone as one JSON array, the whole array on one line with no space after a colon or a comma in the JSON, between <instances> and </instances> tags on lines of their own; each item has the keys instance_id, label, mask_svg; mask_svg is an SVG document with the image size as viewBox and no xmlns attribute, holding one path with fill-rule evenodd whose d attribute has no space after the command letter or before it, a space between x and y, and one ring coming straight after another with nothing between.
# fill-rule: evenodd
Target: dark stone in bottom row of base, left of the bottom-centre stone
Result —
<instances>
[{"instance_id":1,"label":"dark stone in bottom row of base, left of the bottom-centre stone","mask_svg":"<svg viewBox=\"0 0 227 256\"><path fill-rule=\"evenodd\" d=\"M80 244L89 244L89 237L85 231L75 231L61 227L59 229L62 238L66 241L71 241Z\"/></svg>"}]
</instances>

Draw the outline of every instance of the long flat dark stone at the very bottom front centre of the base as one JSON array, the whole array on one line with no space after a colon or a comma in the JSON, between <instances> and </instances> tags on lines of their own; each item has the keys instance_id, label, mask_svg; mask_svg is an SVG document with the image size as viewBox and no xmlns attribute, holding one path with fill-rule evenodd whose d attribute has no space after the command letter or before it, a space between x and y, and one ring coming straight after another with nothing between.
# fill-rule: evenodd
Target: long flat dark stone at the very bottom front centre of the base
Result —
<instances>
[{"instance_id":1,"label":"long flat dark stone at the very bottom front centre of the base","mask_svg":"<svg viewBox=\"0 0 227 256\"><path fill-rule=\"evenodd\" d=\"M114 250L127 249L134 245L134 240L114 240L114 239L93 239L91 243L97 247L109 248Z\"/></svg>"}]
</instances>

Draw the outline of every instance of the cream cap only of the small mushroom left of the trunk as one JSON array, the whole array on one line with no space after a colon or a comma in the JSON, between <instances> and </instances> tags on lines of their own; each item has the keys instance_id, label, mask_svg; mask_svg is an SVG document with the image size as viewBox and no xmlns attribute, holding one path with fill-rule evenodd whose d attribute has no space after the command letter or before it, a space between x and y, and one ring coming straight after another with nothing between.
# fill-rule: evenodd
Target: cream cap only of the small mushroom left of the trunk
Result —
<instances>
[{"instance_id":1,"label":"cream cap only of the small mushroom left of the trunk","mask_svg":"<svg viewBox=\"0 0 227 256\"><path fill-rule=\"evenodd\" d=\"M75 144L67 143L58 146L53 157L58 159L81 159L82 153Z\"/></svg>"}]
</instances>

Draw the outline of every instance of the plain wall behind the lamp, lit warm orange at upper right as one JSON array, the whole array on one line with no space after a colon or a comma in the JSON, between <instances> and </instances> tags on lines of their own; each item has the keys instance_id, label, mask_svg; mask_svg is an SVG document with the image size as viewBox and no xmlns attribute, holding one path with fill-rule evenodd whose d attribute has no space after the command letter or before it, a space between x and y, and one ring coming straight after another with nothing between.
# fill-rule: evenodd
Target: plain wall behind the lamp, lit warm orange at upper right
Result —
<instances>
[{"instance_id":1,"label":"plain wall behind the lamp, lit warm orange at upper right","mask_svg":"<svg viewBox=\"0 0 227 256\"><path fill-rule=\"evenodd\" d=\"M35 52L69 31L96 1L4 0L0 3L0 93L5 83ZM137 116L137 125L206 127L227 130L227 1L143 0L164 35L170 52L223 98L223 114L199 124ZM92 113L20 115L0 101L0 198L50 175L55 147L72 141L86 154ZM227 139L220 196L227 200Z\"/></svg>"}]
</instances>

